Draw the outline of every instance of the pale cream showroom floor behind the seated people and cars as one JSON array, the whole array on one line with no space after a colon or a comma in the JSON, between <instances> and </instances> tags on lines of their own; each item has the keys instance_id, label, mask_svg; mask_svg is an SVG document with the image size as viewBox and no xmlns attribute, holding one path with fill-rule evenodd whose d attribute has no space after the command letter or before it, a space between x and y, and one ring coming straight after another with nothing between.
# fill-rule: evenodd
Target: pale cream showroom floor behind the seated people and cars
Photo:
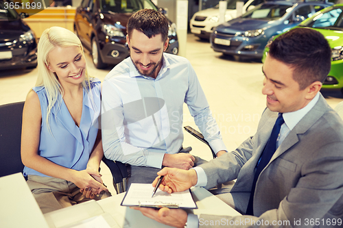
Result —
<instances>
[{"instance_id":1,"label":"pale cream showroom floor behind the seated people and cars","mask_svg":"<svg viewBox=\"0 0 343 228\"><path fill-rule=\"evenodd\" d=\"M215 53L209 42L198 40L193 34L187 37L187 59L195 69L200 84L209 101L213 116L222 131L228 150L235 149L248 136L255 134L259 117L265 108L265 96L261 93L262 63L256 60L235 60ZM111 67L97 70L86 52L91 75L102 81ZM2 71L0 73L0 105L24 101L27 92L36 82L37 68L31 71ZM335 107L343 96L340 92L323 92L331 107ZM196 127L185 105L184 125ZM185 133L184 147L193 147L193 155L211 159L206 145ZM105 183L111 187L110 173L102 167ZM113 194L115 191L110 189Z\"/></svg>"}]
</instances>

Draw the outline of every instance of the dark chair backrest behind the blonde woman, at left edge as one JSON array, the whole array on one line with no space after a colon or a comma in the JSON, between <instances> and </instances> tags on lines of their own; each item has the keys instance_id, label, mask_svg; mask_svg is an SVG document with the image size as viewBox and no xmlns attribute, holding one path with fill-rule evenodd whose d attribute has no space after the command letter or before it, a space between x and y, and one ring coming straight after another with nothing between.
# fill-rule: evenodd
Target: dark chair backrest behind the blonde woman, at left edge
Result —
<instances>
[{"instance_id":1,"label":"dark chair backrest behind the blonde woman, at left edge","mask_svg":"<svg viewBox=\"0 0 343 228\"><path fill-rule=\"evenodd\" d=\"M0 177L23 172L21 123L24 101L0 105Z\"/></svg>"}]
</instances>

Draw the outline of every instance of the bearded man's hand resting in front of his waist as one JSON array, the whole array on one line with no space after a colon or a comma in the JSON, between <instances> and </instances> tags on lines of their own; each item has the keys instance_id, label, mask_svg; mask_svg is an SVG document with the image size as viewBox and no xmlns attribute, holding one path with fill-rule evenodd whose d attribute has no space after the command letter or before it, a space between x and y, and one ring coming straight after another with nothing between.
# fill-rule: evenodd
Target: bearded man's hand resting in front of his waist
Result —
<instances>
[{"instance_id":1,"label":"bearded man's hand resting in front of his waist","mask_svg":"<svg viewBox=\"0 0 343 228\"><path fill-rule=\"evenodd\" d=\"M165 153L162 165L171 168L181 168L189 170L189 168L192 168L194 166L195 160L196 158L189 153Z\"/></svg>"}]
</instances>

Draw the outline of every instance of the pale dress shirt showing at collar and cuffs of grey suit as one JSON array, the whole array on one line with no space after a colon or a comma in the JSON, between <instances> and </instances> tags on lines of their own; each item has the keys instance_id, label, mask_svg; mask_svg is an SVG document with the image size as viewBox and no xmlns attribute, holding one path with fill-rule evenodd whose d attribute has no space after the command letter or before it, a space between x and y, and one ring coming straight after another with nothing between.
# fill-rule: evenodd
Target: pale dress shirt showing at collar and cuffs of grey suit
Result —
<instances>
[{"instance_id":1,"label":"pale dress shirt showing at collar and cuffs of grey suit","mask_svg":"<svg viewBox=\"0 0 343 228\"><path fill-rule=\"evenodd\" d=\"M299 123L299 121L309 112L309 110L316 105L318 99L320 97L320 93L318 92L314 99L312 99L305 107L300 110L296 110L295 112L285 112L283 113L283 120L285 123L281 125L280 134L276 141L276 148L285 140L288 136L289 132ZM200 167L194 167L193 169L196 170L198 175L198 182L196 186L204 187L207 184L207 177L204 170ZM187 219L187 228L196 228L198 227L198 220L194 215L191 215L191 218Z\"/></svg>"}]
</instances>

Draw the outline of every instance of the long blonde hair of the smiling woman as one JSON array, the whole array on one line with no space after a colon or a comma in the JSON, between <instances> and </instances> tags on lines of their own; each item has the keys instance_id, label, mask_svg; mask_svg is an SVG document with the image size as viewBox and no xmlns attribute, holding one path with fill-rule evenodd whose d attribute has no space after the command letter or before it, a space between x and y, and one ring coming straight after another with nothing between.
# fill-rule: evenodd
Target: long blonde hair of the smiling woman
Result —
<instances>
[{"instance_id":1,"label":"long blonde hair of the smiling woman","mask_svg":"<svg viewBox=\"0 0 343 228\"><path fill-rule=\"evenodd\" d=\"M56 47L71 46L80 47L83 55L82 58L84 58L84 50L78 36L73 34L72 31L69 31L68 29L64 29L62 27L50 27L49 29L45 29L38 42L38 78L36 81L36 86L44 86L47 92L48 107L47 118L45 121L48 128L51 109L56 103L58 103L58 108L60 107L64 94L64 90L60 82L58 81L56 73L49 71L49 68L47 67L49 66L49 53ZM82 87L86 88L88 94L91 95L91 93L89 92L91 90L90 79L93 79L93 77L88 76L87 67L85 68L84 75L85 77L84 81L82 81ZM58 96L59 94L61 96ZM60 97L59 100L58 97ZM93 101L92 97L91 101Z\"/></svg>"}]
</instances>

